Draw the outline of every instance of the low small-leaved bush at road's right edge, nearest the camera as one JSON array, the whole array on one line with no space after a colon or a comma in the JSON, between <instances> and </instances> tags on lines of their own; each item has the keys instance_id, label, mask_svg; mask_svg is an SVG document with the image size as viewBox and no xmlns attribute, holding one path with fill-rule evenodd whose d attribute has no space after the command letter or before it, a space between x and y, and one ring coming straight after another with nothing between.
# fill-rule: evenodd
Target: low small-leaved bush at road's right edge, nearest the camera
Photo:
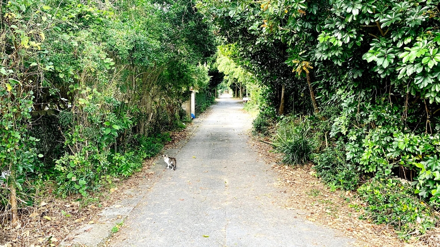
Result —
<instances>
[{"instance_id":1,"label":"low small-leaved bush at road's right edge, nearest the camera","mask_svg":"<svg viewBox=\"0 0 440 247\"><path fill-rule=\"evenodd\" d=\"M392 225L402 238L424 234L439 219L417 197L408 183L396 179L372 180L359 189L359 196L366 202L366 214L376 224Z\"/></svg>"}]
</instances>

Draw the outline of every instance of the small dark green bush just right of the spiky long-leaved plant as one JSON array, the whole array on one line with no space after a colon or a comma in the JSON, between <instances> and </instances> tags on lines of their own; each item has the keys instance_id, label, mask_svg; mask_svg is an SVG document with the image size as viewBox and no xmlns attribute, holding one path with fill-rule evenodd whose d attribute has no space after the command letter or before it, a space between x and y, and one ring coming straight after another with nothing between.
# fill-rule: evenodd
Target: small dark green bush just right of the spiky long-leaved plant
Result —
<instances>
[{"instance_id":1,"label":"small dark green bush just right of the spiky long-leaved plant","mask_svg":"<svg viewBox=\"0 0 440 247\"><path fill-rule=\"evenodd\" d=\"M314 169L318 176L334 188L353 190L359 183L359 173L355 166L346 160L343 144L328 147L315 156Z\"/></svg>"}]
</instances>

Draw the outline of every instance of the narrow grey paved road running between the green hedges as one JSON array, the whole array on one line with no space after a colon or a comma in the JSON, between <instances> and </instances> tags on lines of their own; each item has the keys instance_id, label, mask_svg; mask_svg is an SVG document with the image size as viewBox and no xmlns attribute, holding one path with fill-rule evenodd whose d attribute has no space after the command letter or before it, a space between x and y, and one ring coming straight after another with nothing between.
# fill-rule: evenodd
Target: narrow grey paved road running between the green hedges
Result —
<instances>
[{"instance_id":1,"label":"narrow grey paved road running between the green hedges","mask_svg":"<svg viewBox=\"0 0 440 247\"><path fill-rule=\"evenodd\" d=\"M350 240L274 205L277 175L246 141L249 116L221 98L125 221L113 247L343 247Z\"/></svg>"}]
</instances>

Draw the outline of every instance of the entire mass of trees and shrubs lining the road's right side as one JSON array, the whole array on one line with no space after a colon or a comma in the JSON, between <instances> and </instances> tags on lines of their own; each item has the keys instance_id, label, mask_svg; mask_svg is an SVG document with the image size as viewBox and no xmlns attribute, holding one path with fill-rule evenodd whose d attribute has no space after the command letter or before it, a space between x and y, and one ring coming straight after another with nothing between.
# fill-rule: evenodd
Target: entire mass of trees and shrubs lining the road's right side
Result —
<instances>
[{"instance_id":1,"label":"entire mass of trees and shrubs lining the road's right side","mask_svg":"<svg viewBox=\"0 0 440 247\"><path fill-rule=\"evenodd\" d=\"M254 88L254 133L269 136L284 164L313 162L333 190L357 191L362 218L414 239L440 226L439 4L201 0L198 7L225 41L219 70L238 84L246 74Z\"/></svg>"}]
</instances>

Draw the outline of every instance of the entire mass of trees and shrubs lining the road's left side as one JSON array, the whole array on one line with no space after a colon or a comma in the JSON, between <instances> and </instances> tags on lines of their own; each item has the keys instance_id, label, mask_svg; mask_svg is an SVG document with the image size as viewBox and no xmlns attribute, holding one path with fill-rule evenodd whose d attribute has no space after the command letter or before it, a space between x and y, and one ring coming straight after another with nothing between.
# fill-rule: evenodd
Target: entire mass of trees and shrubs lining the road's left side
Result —
<instances>
[{"instance_id":1,"label":"entire mass of trees and shrubs lining the road's left side","mask_svg":"<svg viewBox=\"0 0 440 247\"><path fill-rule=\"evenodd\" d=\"M213 103L214 36L193 4L1 1L1 228L41 195L87 203L138 171L185 126L190 88L198 111Z\"/></svg>"}]
</instances>

